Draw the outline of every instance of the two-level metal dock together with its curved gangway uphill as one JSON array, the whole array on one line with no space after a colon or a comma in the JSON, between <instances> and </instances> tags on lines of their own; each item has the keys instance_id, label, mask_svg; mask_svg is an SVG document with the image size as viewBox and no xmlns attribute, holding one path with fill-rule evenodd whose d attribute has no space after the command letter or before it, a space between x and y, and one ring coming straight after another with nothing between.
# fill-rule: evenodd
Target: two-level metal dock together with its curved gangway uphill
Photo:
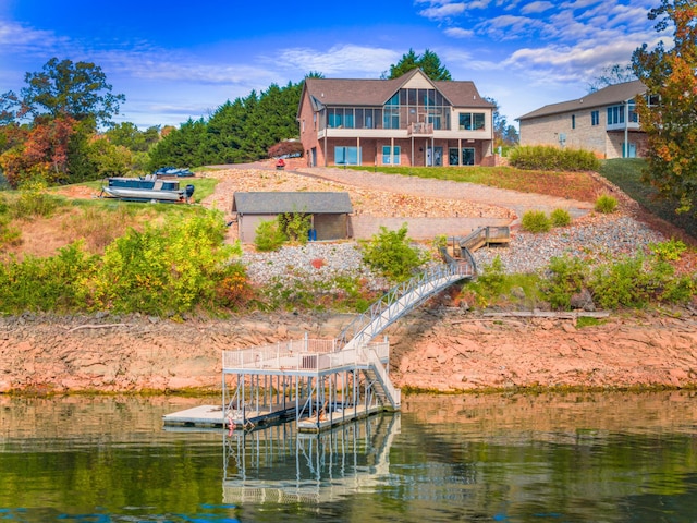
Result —
<instances>
[{"instance_id":1,"label":"two-level metal dock together with its curved gangway uphill","mask_svg":"<svg viewBox=\"0 0 697 523\"><path fill-rule=\"evenodd\" d=\"M334 340L279 342L243 351L224 351L223 410L231 424L295 417L299 430L315 431L399 410L401 391L389 376L389 343L374 341L388 326L451 284L477 273L472 253L398 284L357 316ZM228 386L228 377L235 382ZM293 416L294 412L294 416Z\"/></svg>"}]
</instances>

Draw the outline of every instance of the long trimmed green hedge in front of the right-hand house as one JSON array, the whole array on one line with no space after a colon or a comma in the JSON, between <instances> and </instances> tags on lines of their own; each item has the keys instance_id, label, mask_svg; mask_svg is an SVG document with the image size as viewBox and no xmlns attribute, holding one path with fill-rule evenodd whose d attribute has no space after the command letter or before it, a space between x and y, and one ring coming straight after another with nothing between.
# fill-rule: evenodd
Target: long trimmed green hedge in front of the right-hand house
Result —
<instances>
[{"instance_id":1,"label":"long trimmed green hedge in front of the right-hand house","mask_svg":"<svg viewBox=\"0 0 697 523\"><path fill-rule=\"evenodd\" d=\"M588 150L537 145L516 147L509 155L512 167L540 171L598 171L600 160Z\"/></svg>"}]
</instances>

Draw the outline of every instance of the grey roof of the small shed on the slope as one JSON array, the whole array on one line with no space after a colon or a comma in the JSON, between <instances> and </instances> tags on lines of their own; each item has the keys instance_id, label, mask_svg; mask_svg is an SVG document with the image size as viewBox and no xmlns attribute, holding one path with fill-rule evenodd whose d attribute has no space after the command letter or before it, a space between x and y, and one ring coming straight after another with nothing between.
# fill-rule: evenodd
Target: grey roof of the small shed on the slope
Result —
<instances>
[{"instance_id":1,"label":"grey roof of the small shed on the slope","mask_svg":"<svg viewBox=\"0 0 697 523\"><path fill-rule=\"evenodd\" d=\"M232 211L243 215L277 215L280 212L338 215L353 212L353 208L348 193L252 192L234 193Z\"/></svg>"}]
</instances>

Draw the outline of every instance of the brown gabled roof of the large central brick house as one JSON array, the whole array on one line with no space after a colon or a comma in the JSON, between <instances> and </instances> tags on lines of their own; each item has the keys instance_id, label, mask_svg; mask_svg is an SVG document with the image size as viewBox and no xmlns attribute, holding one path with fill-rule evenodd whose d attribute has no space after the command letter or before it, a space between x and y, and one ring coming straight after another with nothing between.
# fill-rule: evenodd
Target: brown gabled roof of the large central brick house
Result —
<instances>
[{"instance_id":1,"label":"brown gabled roof of the large central brick house","mask_svg":"<svg viewBox=\"0 0 697 523\"><path fill-rule=\"evenodd\" d=\"M435 82L419 69L394 80L355 80L355 78L305 78L302 100L305 92L309 95L314 109L321 106L383 106L392 96L414 76L420 74L433 88L438 89L455 107L491 108L492 104L484 99L477 87L469 81Z\"/></svg>"}]
</instances>

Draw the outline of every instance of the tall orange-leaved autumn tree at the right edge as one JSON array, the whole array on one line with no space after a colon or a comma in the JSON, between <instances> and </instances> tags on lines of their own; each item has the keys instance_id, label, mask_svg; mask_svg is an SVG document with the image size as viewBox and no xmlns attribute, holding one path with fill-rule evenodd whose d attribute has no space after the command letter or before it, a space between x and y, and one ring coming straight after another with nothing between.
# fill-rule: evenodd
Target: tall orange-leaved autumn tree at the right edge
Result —
<instances>
[{"instance_id":1,"label":"tall orange-leaved autumn tree at the right edge","mask_svg":"<svg viewBox=\"0 0 697 523\"><path fill-rule=\"evenodd\" d=\"M678 212L697 205L697 2L661 0L649 20L656 31L672 27L674 47L659 42L653 50L644 44L634 51L632 64L646 85L648 97L637 97L641 130L648 138L645 180L659 194L676 202ZM647 99L648 98L648 99ZM658 99L658 104L648 100Z\"/></svg>"}]
</instances>

